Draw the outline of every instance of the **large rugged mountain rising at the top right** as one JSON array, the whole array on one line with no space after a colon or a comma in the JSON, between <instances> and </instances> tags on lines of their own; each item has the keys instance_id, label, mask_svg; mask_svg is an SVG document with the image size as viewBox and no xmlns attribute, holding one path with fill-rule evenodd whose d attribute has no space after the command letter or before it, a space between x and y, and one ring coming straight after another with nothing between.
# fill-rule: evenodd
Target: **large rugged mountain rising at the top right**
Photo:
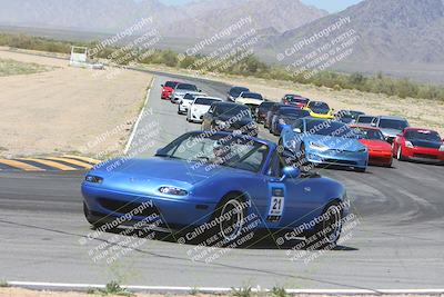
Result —
<instances>
[{"instance_id":1,"label":"large rugged mountain rising at the top right","mask_svg":"<svg viewBox=\"0 0 444 297\"><path fill-rule=\"evenodd\" d=\"M342 12L269 37L260 51L269 61L275 61L276 51L282 52L339 19L349 17L350 23L327 38L304 47L283 63L292 62L352 29L360 39L353 44L353 53L334 66L336 69L382 70L395 76L444 82L443 0L365 0ZM428 70L432 70L431 73L426 73Z\"/></svg>"}]
</instances>

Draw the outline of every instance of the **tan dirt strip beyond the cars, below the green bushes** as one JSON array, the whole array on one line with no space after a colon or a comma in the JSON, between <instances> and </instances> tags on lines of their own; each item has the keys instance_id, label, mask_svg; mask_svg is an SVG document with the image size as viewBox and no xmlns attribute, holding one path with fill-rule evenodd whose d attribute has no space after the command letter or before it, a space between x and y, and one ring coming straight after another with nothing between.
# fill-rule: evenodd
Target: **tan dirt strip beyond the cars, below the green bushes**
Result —
<instances>
[{"instance_id":1,"label":"tan dirt strip beyond the cars, below the green bushes","mask_svg":"<svg viewBox=\"0 0 444 297\"><path fill-rule=\"evenodd\" d=\"M160 66L149 66L145 68L171 73L192 75L192 72L183 69ZM369 93L356 90L333 90L312 85L238 76L206 73L201 77L225 82L231 86L248 87L274 101L279 101L285 93L300 93L312 100L323 100L335 110L351 109L364 111L367 115L374 116L402 116L406 117L412 126L435 129L444 137L444 102L442 101L413 98L402 99L382 93Z\"/></svg>"}]
</instances>

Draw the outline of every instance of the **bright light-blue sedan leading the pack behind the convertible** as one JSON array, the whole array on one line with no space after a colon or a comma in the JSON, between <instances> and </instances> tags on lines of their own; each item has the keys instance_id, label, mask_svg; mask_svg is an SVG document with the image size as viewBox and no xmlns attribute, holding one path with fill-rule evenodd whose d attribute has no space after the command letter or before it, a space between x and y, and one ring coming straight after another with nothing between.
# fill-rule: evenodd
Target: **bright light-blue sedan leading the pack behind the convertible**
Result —
<instances>
[{"instance_id":1,"label":"bright light-blue sedan leading the pack behind the convertible","mask_svg":"<svg viewBox=\"0 0 444 297\"><path fill-rule=\"evenodd\" d=\"M282 130L279 143L300 166L335 165L364 172L369 150L345 123L303 118Z\"/></svg>"}]
</instances>

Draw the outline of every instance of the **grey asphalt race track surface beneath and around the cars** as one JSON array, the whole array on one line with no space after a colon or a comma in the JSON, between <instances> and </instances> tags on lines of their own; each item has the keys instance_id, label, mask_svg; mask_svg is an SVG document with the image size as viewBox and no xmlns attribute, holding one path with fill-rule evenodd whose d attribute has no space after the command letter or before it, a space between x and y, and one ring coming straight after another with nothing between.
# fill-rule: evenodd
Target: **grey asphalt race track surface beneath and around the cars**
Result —
<instances>
[{"instance_id":1,"label":"grey asphalt race track surface beneath and around the cars","mask_svg":"<svg viewBox=\"0 0 444 297\"><path fill-rule=\"evenodd\" d=\"M157 75L148 106L153 115L139 122L130 154L150 156L179 135L200 129L178 116L176 106L160 100L160 83L169 78ZM229 88L205 80L196 83L223 98ZM153 135L143 139L147 131ZM261 136L270 137L264 131ZM107 264L94 261L94 250L115 241L115 235L85 238L93 230L82 215L81 172L0 171L0 279L70 284L118 279L128 285L188 287L444 287L444 167L395 161L392 169L371 167L366 174L321 172L347 187L359 224L340 249L310 253L315 258L309 263L290 259L292 242L226 250L205 264L190 259L192 246L147 240ZM131 244L125 241L129 237L117 238L113 247Z\"/></svg>"}]
</instances>

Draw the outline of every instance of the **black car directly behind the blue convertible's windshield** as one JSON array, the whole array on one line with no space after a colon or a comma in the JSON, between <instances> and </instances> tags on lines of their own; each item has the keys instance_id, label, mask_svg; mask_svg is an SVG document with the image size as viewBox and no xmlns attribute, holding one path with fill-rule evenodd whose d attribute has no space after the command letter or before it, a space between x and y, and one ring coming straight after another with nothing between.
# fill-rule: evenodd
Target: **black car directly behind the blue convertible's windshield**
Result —
<instances>
[{"instance_id":1,"label":"black car directly behind the blue convertible's windshield","mask_svg":"<svg viewBox=\"0 0 444 297\"><path fill-rule=\"evenodd\" d=\"M258 126L250 108L232 102L214 102L203 115L203 130L228 131L258 136Z\"/></svg>"}]
</instances>

